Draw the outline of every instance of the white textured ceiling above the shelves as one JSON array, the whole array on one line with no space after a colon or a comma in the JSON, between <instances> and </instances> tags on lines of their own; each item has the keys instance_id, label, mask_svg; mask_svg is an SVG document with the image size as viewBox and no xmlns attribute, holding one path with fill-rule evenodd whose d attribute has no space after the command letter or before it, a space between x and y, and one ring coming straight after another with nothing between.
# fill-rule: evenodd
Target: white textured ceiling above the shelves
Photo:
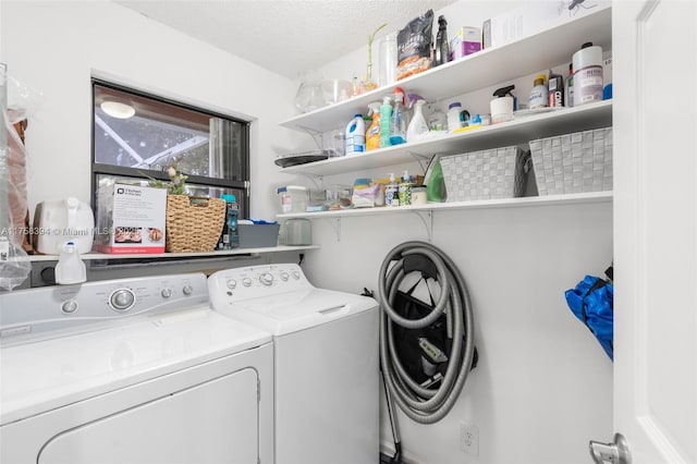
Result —
<instances>
[{"instance_id":1,"label":"white textured ceiling above the shelves","mask_svg":"<svg viewBox=\"0 0 697 464\"><path fill-rule=\"evenodd\" d=\"M295 78L456 0L114 0L247 61ZM437 25L436 25L437 27ZM383 34L378 34L380 37Z\"/></svg>"}]
</instances>

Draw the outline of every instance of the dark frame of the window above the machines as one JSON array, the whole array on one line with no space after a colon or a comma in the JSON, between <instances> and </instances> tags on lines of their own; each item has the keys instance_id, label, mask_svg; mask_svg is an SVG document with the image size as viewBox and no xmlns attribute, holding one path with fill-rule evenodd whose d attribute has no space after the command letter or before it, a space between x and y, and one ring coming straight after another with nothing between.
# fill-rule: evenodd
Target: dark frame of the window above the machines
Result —
<instances>
[{"instance_id":1,"label":"dark frame of the window above the machines","mask_svg":"<svg viewBox=\"0 0 697 464\"><path fill-rule=\"evenodd\" d=\"M90 117L90 121L91 121L91 127L90 127L90 188L91 188L91 206L93 206L93 210L96 212L97 211L97 190L98 190L98 178L100 175L112 175L112 176L126 176L126 178L133 178L133 179L143 179L143 180L148 180L148 178L145 174L149 175L152 179L157 179L157 180L161 180L161 181L169 181L169 175L167 173L167 171L157 171L157 170L148 170L148 169L140 169L140 168L130 168L130 167L121 167L121 166L113 166L113 164L106 164L106 163L100 163L100 162L96 162L97 159L97 154L95 150L95 126L96 126L96 121L95 121L95 85L99 85L102 87L108 87L114 90L119 90L119 91L124 91L124 93L130 93L130 94L134 94L136 96L139 97L144 97L144 98L148 98L148 99L152 99L159 102L163 102L167 105L172 105L179 108L183 108L186 110L192 110L192 111L198 111L205 114L209 114L210 117L213 118L221 118L221 119L225 119L229 121L233 121L235 123L241 124L242 130L242 141L241 141L241 146L242 146L242 150L243 150L243 172L241 172L241 176L243 178L243 180L240 181L235 181L235 180L231 180L231 179L224 179L224 178L209 178L209 176L203 176L203 175L188 175L187 179L187 183L189 184L197 184L197 185L204 185L204 186L209 186L209 187L219 187L219 188L234 188L237 191L242 191L243 192L243 197L242 198L237 198L237 204L240 205L240 210L242 213L244 213L247 217L252 217L250 211L249 211L249 196L250 196L250 180L249 180L249 164L250 164L250 150L249 150L249 131L250 131L250 125L252 122L247 121L247 120L243 120L236 117L232 117L229 114L224 114L221 113L219 111L215 111L215 110L210 110L207 108L203 108L203 107L198 107L198 106L194 106L191 103L185 103L182 101L176 101L173 100L171 98L168 97L162 97L160 95L155 95L149 91L144 91L144 90L139 90L137 88L133 88L133 87L129 87L129 86L124 86L121 84L115 84L113 82L110 81L105 81L98 77L91 77L90 80L90 103L91 103L91 117Z\"/></svg>"}]
</instances>

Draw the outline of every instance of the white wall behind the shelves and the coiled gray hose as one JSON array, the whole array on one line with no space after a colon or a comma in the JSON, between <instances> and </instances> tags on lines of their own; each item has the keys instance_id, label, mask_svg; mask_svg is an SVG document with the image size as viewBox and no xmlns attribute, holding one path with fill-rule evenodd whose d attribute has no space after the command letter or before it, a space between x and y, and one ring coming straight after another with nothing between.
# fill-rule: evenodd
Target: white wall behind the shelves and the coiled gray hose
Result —
<instances>
[{"instance_id":1,"label":"white wall behind the shelves and the coiled gray hose","mask_svg":"<svg viewBox=\"0 0 697 464\"><path fill-rule=\"evenodd\" d=\"M452 37L458 26L480 25L490 15L519 5L463 0L435 13L445 15ZM321 72L326 77L350 78L355 71L364 72L366 59L364 47ZM566 74L565 63L550 64ZM527 102L533 80L521 77L515 82L516 95ZM491 83L491 88L457 99L472 112L488 112L497 84L508 83ZM441 102L441 110L447 110L448 102ZM420 171L413 162L322 181L351 184L355 178L383 176L403 168ZM313 228L315 242L322 248L307 254L310 279L320 286L353 293L365 286L377 294L380 265L393 246L428 240L414 212L318 219ZM423 464L589 462L588 440L612 435L612 363L574 318L564 291L586 273L602 276L612 260L611 204L437 211L432 244L455 261L467 281L480 357L444 419L421 426L400 412L406 460ZM391 435L382 412L381 441L389 447ZM461 423L479 429L477 456L460 450Z\"/></svg>"}]
</instances>

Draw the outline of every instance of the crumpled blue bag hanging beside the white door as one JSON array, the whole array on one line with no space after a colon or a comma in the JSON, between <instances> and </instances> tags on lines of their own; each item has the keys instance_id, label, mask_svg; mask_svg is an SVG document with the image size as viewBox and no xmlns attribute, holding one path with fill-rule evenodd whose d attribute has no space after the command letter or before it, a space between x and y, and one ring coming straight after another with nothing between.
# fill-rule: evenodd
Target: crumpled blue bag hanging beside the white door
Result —
<instances>
[{"instance_id":1,"label":"crumpled blue bag hanging beside the white door","mask_svg":"<svg viewBox=\"0 0 697 464\"><path fill-rule=\"evenodd\" d=\"M575 289L565 292L566 303L574 315L598 339L610 359L613 356L614 288L611 281L586 276Z\"/></svg>"}]
</instances>

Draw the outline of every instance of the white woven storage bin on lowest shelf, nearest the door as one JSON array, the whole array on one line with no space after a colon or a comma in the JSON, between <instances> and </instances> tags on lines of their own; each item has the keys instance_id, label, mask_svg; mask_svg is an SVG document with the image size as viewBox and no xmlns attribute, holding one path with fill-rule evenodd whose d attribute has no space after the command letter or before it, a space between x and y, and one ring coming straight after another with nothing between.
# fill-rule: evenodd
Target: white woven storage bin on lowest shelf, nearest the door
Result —
<instances>
[{"instance_id":1,"label":"white woven storage bin on lowest shelf, nearest the door","mask_svg":"<svg viewBox=\"0 0 697 464\"><path fill-rule=\"evenodd\" d=\"M539 195L612 190L612 127L530 142Z\"/></svg>"}]
</instances>

